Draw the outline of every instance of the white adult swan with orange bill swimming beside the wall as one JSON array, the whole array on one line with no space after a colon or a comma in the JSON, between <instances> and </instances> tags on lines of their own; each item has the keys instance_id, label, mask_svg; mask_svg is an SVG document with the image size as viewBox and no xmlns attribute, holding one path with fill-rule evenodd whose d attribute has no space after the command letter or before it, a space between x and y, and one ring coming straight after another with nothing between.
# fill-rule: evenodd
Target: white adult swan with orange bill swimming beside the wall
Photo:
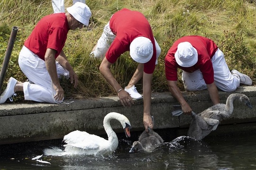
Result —
<instances>
[{"instance_id":1,"label":"white adult swan with orange bill swimming beside the wall","mask_svg":"<svg viewBox=\"0 0 256 170\"><path fill-rule=\"evenodd\" d=\"M116 112L110 112L103 120L103 126L108 135L108 140L100 136L76 130L64 136L63 141L66 143L64 144L64 152L60 152L60 149L52 148L45 149L44 154L55 156L86 154L103 157L111 155L117 149L119 144L118 137L110 126L111 119L119 120L125 130L126 136L130 137L131 125L127 117Z\"/></svg>"}]
</instances>

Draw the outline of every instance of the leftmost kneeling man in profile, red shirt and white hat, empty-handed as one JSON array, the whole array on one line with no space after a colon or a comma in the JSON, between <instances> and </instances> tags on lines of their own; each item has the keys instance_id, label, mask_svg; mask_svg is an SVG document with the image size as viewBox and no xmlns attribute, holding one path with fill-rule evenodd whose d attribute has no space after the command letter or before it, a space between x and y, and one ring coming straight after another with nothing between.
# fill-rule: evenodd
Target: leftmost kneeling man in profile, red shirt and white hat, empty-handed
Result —
<instances>
[{"instance_id":1,"label":"leftmost kneeling man in profile, red shirt and white hat, empty-handed","mask_svg":"<svg viewBox=\"0 0 256 170\"><path fill-rule=\"evenodd\" d=\"M7 88L0 95L0 104L8 98L11 101L17 91L24 92L25 100L61 103L64 100L64 90L59 83L61 75L70 78L76 88L78 76L62 49L70 29L88 26L91 10L77 2L67 11L48 15L37 23L18 57L19 67L29 82L9 78Z\"/></svg>"}]
</instances>

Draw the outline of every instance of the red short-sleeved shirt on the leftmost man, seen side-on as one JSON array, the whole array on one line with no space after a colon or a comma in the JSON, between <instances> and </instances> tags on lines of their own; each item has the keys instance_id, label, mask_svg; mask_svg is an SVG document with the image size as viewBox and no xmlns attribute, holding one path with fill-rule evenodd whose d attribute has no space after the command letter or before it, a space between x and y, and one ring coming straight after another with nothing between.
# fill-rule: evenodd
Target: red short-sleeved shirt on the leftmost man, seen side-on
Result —
<instances>
[{"instance_id":1,"label":"red short-sleeved shirt on the leftmost man, seen side-on","mask_svg":"<svg viewBox=\"0 0 256 170\"><path fill-rule=\"evenodd\" d=\"M51 14L37 23L24 45L43 60L45 60L46 49L54 49L56 50L55 58L57 58L64 47L68 31L65 13Z\"/></svg>"}]
</instances>

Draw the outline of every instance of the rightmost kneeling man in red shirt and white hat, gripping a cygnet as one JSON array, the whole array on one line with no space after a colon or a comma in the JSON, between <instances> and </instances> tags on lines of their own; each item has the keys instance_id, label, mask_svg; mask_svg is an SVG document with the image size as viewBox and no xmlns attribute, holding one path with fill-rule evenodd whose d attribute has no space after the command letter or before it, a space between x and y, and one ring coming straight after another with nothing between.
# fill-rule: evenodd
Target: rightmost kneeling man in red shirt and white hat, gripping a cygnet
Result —
<instances>
[{"instance_id":1,"label":"rightmost kneeling man in red shirt and white hat, gripping a cygnet","mask_svg":"<svg viewBox=\"0 0 256 170\"><path fill-rule=\"evenodd\" d=\"M208 89L213 104L219 103L218 89L233 92L240 84L252 85L249 76L237 70L229 71L223 52L212 40L197 35L184 36L174 42L165 56L165 76L170 92L185 114L191 114L192 109L176 85L177 68L183 70L185 89Z\"/></svg>"}]
</instances>

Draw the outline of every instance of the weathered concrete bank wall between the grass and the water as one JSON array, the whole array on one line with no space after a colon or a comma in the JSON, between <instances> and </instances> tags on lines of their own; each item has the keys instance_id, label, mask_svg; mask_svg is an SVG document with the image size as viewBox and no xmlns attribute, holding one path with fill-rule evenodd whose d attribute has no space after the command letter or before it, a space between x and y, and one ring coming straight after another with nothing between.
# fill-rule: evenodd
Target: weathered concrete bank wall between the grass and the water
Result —
<instances>
[{"instance_id":1,"label":"weathered concrete bank wall between the grass and the water","mask_svg":"<svg viewBox=\"0 0 256 170\"><path fill-rule=\"evenodd\" d=\"M256 122L256 87L239 87L236 92L246 94L253 109L234 102L234 112L231 118L221 122L221 125L235 125ZM221 102L231 93L219 92ZM199 92L184 92L184 98L196 113L212 106L207 90ZM103 119L109 112L119 112L127 116L131 122L131 131L143 130L143 100L135 101L131 107L121 106L117 96L74 100L69 105L48 103L1 104L0 105L0 144L49 140L63 138L73 130L87 131L93 134L105 134ZM171 93L153 93L151 115L155 118L155 129L181 129L184 135L189 127L191 118L187 115L172 116L173 105L178 102ZM111 125L116 132L122 132L117 120ZM221 126L220 125L220 126ZM214 133L218 133L221 127ZM245 126L241 126L245 127ZM253 126L255 127L255 126Z\"/></svg>"}]
</instances>

